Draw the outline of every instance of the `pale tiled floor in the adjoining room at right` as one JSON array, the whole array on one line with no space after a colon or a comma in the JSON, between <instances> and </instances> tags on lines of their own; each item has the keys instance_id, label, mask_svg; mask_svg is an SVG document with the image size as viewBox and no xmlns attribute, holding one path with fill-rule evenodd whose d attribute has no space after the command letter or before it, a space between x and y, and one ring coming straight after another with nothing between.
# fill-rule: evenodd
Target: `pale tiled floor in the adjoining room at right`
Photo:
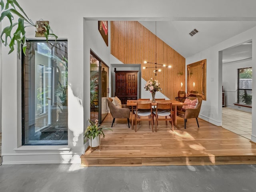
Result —
<instances>
[{"instance_id":1,"label":"pale tiled floor in the adjoining room at right","mask_svg":"<svg viewBox=\"0 0 256 192\"><path fill-rule=\"evenodd\" d=\"M222 127L251 140L252 113L223 107Z\"/></svg>"}]
</instances>

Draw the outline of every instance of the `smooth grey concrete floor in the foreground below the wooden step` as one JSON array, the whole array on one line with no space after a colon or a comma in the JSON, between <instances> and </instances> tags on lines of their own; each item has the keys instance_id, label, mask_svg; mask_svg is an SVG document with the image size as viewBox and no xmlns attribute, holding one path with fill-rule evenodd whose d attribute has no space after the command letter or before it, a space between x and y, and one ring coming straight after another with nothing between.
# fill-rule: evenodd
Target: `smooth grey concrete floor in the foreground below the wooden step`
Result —
<instances>
[{"instance_id":1,"label":"smooth grey concrete floor in the foreground below the wooden step","mask_svg":"<svg viewBox=\"0 0 256 192\"><path fill-rule=\"evenodd\" d=\"M1 192L254 192L256 165L0 166Z\"/></svg>"}]
</instances>

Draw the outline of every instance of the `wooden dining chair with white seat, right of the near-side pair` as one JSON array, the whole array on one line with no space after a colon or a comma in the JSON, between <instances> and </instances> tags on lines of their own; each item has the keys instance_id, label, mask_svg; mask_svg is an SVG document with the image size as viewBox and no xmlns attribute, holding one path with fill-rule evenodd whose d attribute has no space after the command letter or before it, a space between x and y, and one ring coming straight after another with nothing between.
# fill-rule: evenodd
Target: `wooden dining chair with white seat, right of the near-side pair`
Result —
<instances>
[{"instance_id":1,"label":"wooden dining chair with white seat, right of the near-side pair","mask_svg":"<svg viewBox=\"0 0 256 192\"><path fill-rule=\"evenodd\" d=\"M172 103L170 102L162 102L162 103L156 103L156 110L153 111L154 117L156 117L156 127L158 126L158 121L171 121L172 122L172 131L174 131L173 128L173 120L172 120ZM167 118L167 116L170 116L170 118ZM154 118L153 117L153 118ZM165 118L162 118L165 117ZM156 128L157 132L157 128Z\"/></svg>"}]
</instances>

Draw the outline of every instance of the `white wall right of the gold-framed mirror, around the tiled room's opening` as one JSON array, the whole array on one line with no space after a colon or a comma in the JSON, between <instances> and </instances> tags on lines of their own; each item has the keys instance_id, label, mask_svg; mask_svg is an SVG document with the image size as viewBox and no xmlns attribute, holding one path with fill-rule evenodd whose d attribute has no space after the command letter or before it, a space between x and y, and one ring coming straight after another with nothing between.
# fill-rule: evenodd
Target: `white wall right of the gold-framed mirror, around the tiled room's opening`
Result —
<instances>
[{"instance_id":1,"label":"white wall right of the gold-framed mirror, around the tiled room's opening","mask_svg":"<svg viewBox=\"0 0 256 192\"><path fill-rule=\"evenodd\" d=\"M206 93L207 100L202 102L200 118L215 125L222 124L222 62L219 63L218 52L231 46L246 42L252 39L252 60L256 62L256 27L247 30L237 36L212 46L194 56L186 58L186 65L206 59ZM255 74L255 68L252 68ZM230 74L230 72L227 72ZM256 94L256 78L252 78L252 95ZM256 102L252 98L252 116L255 114ZM256 142L256 120L252 120L252 141Z\"/></svg>"}]
</instances>

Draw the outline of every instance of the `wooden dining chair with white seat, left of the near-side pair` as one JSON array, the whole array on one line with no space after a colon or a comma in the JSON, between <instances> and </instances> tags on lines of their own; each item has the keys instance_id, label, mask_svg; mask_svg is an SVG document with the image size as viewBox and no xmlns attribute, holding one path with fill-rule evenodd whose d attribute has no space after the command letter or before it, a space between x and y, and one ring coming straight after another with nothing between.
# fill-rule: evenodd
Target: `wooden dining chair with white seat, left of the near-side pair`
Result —
<instances>
[{"instance_id":1,"label":"wooden dining chair with white seat, left of the near-side pair","mask_svg":"<svg viewBox=\"0 0 256 192\"><path fill-rule=\"evenodd\" d=\"M137 103L135 112L135 132L137 132L137 121L148 121L151 122L152 132L153 129L153 116L152 116L152 103L151 102L143 102Z\"/></svg>"}]
</instances>

